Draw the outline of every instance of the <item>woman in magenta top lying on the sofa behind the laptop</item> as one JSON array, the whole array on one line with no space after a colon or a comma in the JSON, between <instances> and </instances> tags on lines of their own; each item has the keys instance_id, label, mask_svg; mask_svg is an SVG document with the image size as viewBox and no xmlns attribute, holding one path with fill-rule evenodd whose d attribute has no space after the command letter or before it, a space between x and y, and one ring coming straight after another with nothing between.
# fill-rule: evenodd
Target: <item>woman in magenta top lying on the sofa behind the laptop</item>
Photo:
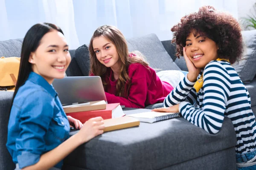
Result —
<instances>
[{"instance_id":1,"label":"woman in magenta top lying on the sofa behind the laptop","mask_svg":"<svg viewBox=\"0 0 256 170\"><path fill-rule=\"evenodd\" d=\"M173 87L161 81L138 51L128 52L125 37L114 26L101 26L90 40L90 76L99 76L108 103L145 108L163 102Z\"/></svg>"}]
</instances>

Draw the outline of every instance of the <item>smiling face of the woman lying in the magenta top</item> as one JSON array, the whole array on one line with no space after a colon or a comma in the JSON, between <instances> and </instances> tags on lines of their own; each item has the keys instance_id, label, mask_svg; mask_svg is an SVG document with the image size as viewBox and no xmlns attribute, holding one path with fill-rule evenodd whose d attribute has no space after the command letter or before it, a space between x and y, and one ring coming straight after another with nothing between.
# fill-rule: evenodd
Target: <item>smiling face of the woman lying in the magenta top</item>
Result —
<instances>
[{"instance_id":1,"label":"smiling face of the woman lying in the magenta top","mask_svg":"<svg viewBox=\"0 0 256 170\"><path fill-rule=\"evenodd\" d=\"M99 62L106 67L111 67L112 70L120 67L116 46L104 36L93 39L93 50Z\"/></svg>"}]
</instances>

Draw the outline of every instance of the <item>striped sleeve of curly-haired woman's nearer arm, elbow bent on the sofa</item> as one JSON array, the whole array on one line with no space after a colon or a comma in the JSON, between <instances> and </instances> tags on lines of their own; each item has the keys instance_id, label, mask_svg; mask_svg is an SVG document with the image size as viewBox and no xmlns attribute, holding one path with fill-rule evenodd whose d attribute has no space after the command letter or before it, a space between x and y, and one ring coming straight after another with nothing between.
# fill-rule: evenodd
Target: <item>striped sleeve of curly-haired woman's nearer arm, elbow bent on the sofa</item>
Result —
<instances>
[{"instance_id":1,"label":"striped sleeve of curly-haired woman's nearer arm, elbow bent on the sofa","mask_svg":"<svg viewBox=\"0 0 256 170\"><path fill-rule=\"evenodd\" d=\"M208 133L218 133L224 120L225 103L229 91L227 71L219 62L210 62L204 70L203 107L196 108L189 102L181 102L182 116ZM202 89L201 89L202 91Z\"/></svg>"}]
</instances>

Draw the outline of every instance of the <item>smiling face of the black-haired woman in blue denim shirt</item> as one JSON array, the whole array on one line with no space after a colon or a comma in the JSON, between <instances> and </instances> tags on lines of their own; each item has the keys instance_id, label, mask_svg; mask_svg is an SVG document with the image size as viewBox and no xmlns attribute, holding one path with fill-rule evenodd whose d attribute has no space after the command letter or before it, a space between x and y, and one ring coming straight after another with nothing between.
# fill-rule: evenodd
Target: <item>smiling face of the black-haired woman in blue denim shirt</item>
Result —
<instances>
[{"instance_id":1,"label":"smiling face of the black-haired woman in blue denim shirt","mask_svg":"<svg viewBox=\"0 0 256 170\"><path fill-rule=\"evenodd\" d=\"M70 61L67 41L64 35L56 30L45 34L36 51L29 57L32 71L44 77L49 84L55 78L64 78Z\"/></svg>"}]
</instances>

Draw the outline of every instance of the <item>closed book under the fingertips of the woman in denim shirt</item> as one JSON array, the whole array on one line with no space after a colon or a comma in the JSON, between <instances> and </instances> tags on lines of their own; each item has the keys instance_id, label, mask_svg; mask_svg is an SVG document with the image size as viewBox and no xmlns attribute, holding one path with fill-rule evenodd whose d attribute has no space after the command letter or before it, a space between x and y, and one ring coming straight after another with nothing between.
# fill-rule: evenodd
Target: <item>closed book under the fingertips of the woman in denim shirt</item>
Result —
<instances>
[{"instance_id":1,"label":"closed book under the fingertips of the woman in denim shirt","mask_svg":"<svg viewBox=\"0 0 256 170\"><path fill-rule=\"evenodd\" d=\"M118 129L124 129L128 127L134 127L139 126L140 121L136 118L129 117L129 116L123 116L113 119L105 119L104 120L105 128L103 129L104 132L112 131L112 130L118 130Z\"/></svg>"}]
</instances>

